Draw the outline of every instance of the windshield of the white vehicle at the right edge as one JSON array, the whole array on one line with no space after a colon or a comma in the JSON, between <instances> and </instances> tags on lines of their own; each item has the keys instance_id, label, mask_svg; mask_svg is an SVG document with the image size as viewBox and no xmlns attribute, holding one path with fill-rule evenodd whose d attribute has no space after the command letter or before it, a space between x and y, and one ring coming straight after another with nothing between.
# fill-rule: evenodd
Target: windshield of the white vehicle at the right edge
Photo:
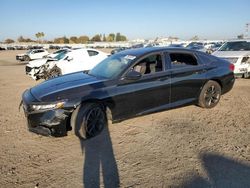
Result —
<instances>
[{"instance_id":1,"label":"windshield of the white vehicle at the right edge","mask_svg":"<svg viewBox=\"0 0 250 188\"><path fill-rule=\"evenodd\" d=\"M250 51L250 42L226 42L221 46L219 51Z\"/></svg>"}]
</instances>

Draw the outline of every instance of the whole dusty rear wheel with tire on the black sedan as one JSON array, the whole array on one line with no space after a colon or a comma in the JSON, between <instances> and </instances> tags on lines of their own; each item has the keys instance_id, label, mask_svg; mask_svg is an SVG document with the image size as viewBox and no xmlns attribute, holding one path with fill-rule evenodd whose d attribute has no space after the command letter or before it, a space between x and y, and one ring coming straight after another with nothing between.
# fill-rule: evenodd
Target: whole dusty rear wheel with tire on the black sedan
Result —
<instances>
[{"instance_id":1,"label":"whole dusty rear wheel with tire on the black sedan","mask_svg":"<svg viewBox=\"0 0 250 188\"><path fill-rule=\"evenodd\" d=\"M208 81L202 88L198 105L202 108L215 107L221 97L221 86L218 82Z\"/></svg>"}]
</instances>

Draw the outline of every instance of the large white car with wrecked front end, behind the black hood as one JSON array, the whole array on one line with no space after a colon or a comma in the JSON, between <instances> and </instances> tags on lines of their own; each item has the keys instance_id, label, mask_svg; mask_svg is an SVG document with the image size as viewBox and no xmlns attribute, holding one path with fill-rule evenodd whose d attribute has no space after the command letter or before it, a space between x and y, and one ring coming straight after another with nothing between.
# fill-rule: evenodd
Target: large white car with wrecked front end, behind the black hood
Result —
<instances>
[{"instance_id":1,"label":"large white car with wrecked front end, behind the black hood","mask_svg":"<svg viewBox=\"0 0 250 188\"><path fill-rule=\"evenodd\" d=\"M84 48L64 51L55 58L30 61L26 65L26 74L34 80L39 80L78 71L88 71L108 55L99 50Z\"/></svg>"}]
</instances>

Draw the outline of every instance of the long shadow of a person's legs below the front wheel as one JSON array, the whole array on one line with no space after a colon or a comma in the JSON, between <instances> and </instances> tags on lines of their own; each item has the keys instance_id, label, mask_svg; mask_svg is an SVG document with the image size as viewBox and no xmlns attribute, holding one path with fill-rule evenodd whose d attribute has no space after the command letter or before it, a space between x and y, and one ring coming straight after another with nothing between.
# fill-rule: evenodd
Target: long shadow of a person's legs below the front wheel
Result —
<instances>
[{"instance_id":1,"label":"long shadow of a person's legs below the front wheel","mask_svg":"<svg viewBox=\"0 0 250 188\"><path fill-rule=\"evenodd\" d=\"M79 140L85 155L82 177L84 187L95 188L102 184L107 188L119 187L119 173L108 127L94 138Z\"/></svg>"}]
</instances>

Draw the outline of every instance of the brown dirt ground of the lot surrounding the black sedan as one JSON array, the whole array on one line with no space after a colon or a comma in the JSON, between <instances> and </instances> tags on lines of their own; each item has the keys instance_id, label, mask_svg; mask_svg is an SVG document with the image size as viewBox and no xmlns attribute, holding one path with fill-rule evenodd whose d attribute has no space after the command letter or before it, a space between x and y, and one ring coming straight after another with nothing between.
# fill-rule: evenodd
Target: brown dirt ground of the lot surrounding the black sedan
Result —
<instances>
[{"instance_id":1,"label":"brown dirt ground of the lot surrounding the black sedan","mask_svg":"<svg viewBox=\"0 0 250 188\"><path fill-rule=\"evenodd\" d=\"M38 82L17 53L0 51L0 187L250 187L250 80L213 109L133 118L82 142L28 132L18 106Z\"/></svg>"}]
</instances>

